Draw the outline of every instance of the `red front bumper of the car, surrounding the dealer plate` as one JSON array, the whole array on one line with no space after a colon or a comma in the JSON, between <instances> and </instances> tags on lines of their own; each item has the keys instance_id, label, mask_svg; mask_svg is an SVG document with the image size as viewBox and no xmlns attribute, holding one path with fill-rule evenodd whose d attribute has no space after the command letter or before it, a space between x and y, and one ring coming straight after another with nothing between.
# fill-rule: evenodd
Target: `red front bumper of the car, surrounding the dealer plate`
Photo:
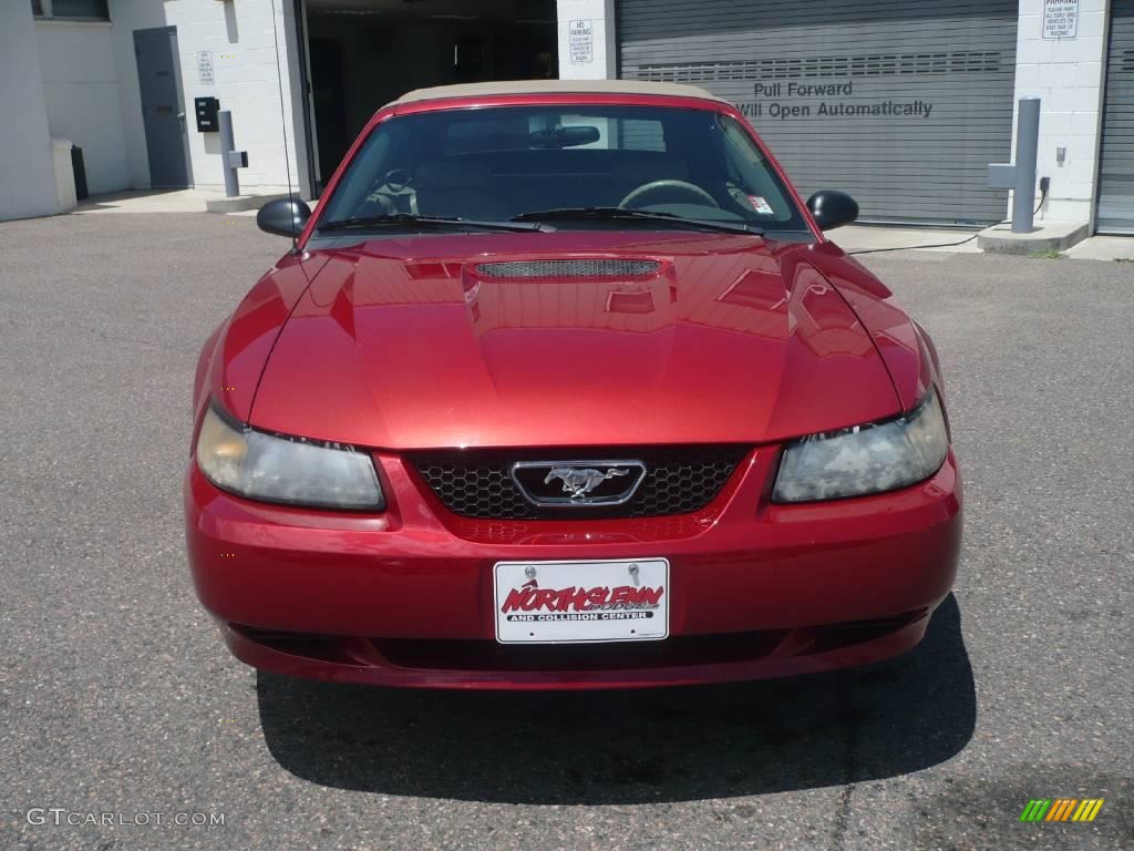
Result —
<instances>
[{"instance_id":1,"label":"red front bumper of the car, surrounding the dealer plate","mask_svg":"<svg viewBox=\"0 0 1134 851\"><path fill-rule=\"evenodd\" d=\"M891 494L773 505L759 448L705 509L672 517L481 521L375 455L390 507L349 515L253 503L191 462L197 595L232 652L316 679L438 688L621 688L824 671L914 647L956 573L953 454ZM670 639L570 647L494 640L499 561L670 562ZM603 649L606 648L606 649Z\"/></svg>"}]
</instances>

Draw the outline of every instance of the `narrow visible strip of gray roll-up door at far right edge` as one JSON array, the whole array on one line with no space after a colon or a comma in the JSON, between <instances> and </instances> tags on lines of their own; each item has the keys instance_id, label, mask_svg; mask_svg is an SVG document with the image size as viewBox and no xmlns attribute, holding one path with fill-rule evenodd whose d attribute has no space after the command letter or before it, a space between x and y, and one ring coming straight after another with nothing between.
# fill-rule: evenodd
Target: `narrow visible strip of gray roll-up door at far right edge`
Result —
<instances>
[{"instance_id":1,"label":"narrow visible strip of gray roll-up door at far right edge","mask_svg":"<svg viewBox=\"0 0 1134 851\"><path fill-rule=\"evenodd\" d=\"M1098 229L1134 234L1134 0L1112 0L1110 16Z\"/></svg>"}]
</instances>

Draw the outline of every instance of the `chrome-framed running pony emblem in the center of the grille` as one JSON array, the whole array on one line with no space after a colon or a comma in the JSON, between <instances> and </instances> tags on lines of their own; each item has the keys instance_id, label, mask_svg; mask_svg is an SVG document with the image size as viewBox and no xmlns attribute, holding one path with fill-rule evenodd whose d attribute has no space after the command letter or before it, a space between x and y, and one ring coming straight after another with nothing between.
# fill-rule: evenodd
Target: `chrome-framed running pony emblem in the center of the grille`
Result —
<instances>
[{"instance_id":1,"label":"chrome-framed running pony emblem in the center of the grille","mask_svg":"<svg viewBox=\"0 0 1134 851\"><path fill-rule=\"evenodd\" d=\"M645 478L641 461L522 461L511 479L532 505L621 505Z\"/></svg>"}]
</instances>

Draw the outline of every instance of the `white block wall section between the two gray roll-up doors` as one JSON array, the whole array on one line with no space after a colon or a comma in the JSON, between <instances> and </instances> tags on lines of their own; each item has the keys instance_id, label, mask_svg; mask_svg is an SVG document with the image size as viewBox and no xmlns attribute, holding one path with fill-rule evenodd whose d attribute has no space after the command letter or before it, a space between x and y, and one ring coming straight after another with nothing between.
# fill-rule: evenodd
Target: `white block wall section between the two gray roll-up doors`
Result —
<instances>
[{"instance_id":1,"label":"white block wall section between the two gray roll-up doors","mask_svg":"<svg viewBox=\"0 0 1134 851\"><path fill-rule=\"evenodd\" d=\"M1051 178L1047 219L1094 220L1108 14L1108 0L1078 0L1076 37L1048 40L1043 0L1019 3L1016 101L1042 101L1036 175ZM1063 165L1059 148L1066 149Z\"/></svg>"}]
</instances>

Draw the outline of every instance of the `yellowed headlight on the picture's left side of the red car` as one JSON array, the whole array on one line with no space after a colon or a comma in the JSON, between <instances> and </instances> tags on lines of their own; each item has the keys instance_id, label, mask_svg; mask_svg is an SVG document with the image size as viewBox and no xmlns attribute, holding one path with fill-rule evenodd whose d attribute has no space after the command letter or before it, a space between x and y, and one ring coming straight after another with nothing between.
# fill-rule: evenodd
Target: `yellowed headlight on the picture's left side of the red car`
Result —
<instances>
[{"instance_id":1,"label":"yellowed headlight on the picture's left side of the red car","mask_svg":"<svg viewBox=\"0 0 1134 851\"><path fill-rule=\"evenodd\" d=\"M218 488L249 499L320 508L386 507L369 455L342 444L234 427L212 406L201 423L197 465Z\"/></svg>"}]
</instances>

